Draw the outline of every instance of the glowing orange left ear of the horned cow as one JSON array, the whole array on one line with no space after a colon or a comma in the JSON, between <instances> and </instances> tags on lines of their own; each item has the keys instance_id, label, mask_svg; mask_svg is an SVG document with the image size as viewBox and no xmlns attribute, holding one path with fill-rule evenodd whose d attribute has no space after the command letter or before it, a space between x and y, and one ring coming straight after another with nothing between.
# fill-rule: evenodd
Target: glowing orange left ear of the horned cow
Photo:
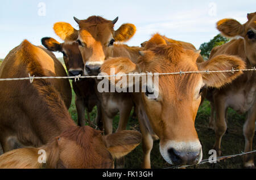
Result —
<instances>
[{"instance_id":1,"label":"glowing orange left ear of the horned cow","mask_svg":"<svg viewBox=\"0 0 256 180\"><path fill-rule=\"evenodd\" d=\"M57 36L65 42L72 43L77 40L79 31L72 27L69 23L58 22L53 25L53 29Z\"/></svg>"}]
</instances>

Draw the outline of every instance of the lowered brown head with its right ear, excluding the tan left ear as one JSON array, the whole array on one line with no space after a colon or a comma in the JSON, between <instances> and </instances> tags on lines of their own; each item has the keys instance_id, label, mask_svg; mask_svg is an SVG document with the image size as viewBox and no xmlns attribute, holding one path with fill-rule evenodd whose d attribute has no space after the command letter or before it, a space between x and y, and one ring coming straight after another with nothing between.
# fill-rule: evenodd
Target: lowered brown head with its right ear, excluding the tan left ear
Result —
<instances>
[{"instance_id":1,"label":"lowered brown head with its right ear, excluding the tan left ear","mask_svg":"<svg viewBox=\"0 0 256 180\"><path fill-rule=\"evenodd\" d=\"M114 158L127 155L141 142L141 133L121 131L102 136L92 127L71 127L55 138L49 168L113 168Z\"/></svg>"}]
</instances>

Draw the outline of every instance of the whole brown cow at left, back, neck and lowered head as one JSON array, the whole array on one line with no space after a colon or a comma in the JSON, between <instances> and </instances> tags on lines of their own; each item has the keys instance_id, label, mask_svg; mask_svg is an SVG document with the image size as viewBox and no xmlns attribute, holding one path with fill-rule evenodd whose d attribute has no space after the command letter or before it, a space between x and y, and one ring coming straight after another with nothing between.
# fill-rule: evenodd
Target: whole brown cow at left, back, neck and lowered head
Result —
<instances>
[{"instance_id":1,"label":"whole brown cow at left, back, neck and lowered head","mask_svg":"<svg viewBox=\"0 0 256 180\"><path fill-rule=\"evenodd\" d=\"M24 40L3 61L0 77L20 78L28 72L35 76L65 76L52 53ZM77 127L62 98L71 91L70 85L65 88L68 93L55 87L65 83L69 85L67 79L34 79L32 84L24 80L1 82L0 142L5 152L0 156L1 168L41 168L35 154L41 148L48 156L45 168L113 168L112 155L120 154L120 146L129 151L139 144L139 132L123 132L119 137L128 134L134 144L122 142L118 151L114 147L108 151L100 131ZM16 149L21 147L35 148Z\"/></svg>"}]
</instances>

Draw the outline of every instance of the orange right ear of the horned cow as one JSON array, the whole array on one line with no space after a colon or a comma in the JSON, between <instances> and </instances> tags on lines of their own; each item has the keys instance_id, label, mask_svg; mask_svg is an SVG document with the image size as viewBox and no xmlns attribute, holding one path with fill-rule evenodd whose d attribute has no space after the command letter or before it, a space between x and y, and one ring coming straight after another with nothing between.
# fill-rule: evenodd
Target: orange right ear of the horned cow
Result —
<instances>
[{"instance_id":1,"label":"orange right ear of the horned cow","mask_svg":"<svg viewBox=\"0 0 256 180\"><path fill-rule=\"evenodd\" d=\"M121 27L114 32L114 39L117 42L126 42L130 40L131 37L136 32L136 27L133 24L122 24Z\"/></svg>"}]
</instances>

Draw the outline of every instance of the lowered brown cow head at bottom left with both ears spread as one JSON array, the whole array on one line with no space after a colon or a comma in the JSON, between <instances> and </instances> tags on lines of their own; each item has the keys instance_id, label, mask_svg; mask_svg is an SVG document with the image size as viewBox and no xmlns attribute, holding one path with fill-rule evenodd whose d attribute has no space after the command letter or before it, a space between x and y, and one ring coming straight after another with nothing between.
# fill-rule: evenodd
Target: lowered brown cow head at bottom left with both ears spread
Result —
<instances>
[{"instance_id":1,"label":"lowered brown cow head at bottom left with both ears spread","mask_svg":"<svg viewBox=\"0 0 256 180\"><path fill-rule=\"evenodd\" d=\"M73 126L42 147L6 152L0 156L0 168L113 168L113 158L125 156L140 141L137 131L102 136L92 127Z\"/></svg>"}]
</instances>

